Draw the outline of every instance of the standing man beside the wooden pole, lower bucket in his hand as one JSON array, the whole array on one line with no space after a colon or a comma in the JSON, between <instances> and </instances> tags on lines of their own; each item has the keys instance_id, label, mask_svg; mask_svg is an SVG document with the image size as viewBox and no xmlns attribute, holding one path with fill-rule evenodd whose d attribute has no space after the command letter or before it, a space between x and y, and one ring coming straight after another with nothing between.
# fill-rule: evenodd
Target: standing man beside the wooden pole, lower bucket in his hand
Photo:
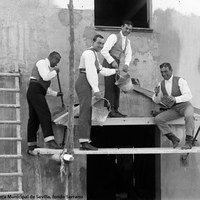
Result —
<instances>
[{"instance_id":1,"label":"standing man beside the wooden pole, lower bucket in his hand","mask_svg":"<svg viewBox=\"0 0 200 200\"><path fill-rule=\"evenodd\" d=\"M79 143L82 150L97 150L90 144L91 115L92 115L92 94L96 100L102 98L98 86L98 74L110 76L115 74L117 69L106 69L99 63L97 52L101 51L104 45L104 38L95 35L93 45L85 50L80 58L79 76L75 83L75 90L78 96L79 111Z\"/></svg>"}]
</instances>

